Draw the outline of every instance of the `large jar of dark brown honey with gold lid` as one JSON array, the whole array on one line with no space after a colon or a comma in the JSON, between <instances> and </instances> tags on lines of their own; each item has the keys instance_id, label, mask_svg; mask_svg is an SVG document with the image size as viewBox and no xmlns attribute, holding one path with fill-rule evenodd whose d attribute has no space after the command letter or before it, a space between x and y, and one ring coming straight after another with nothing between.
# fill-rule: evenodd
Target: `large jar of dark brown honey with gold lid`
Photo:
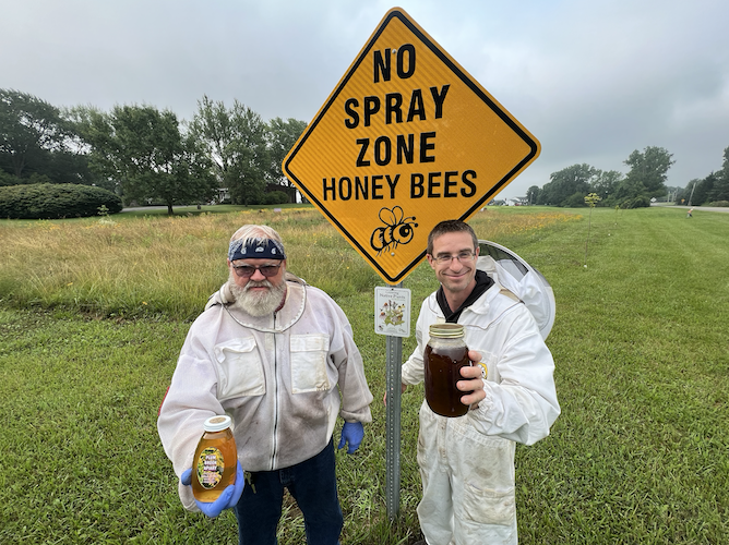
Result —
<instances>
[{"instance_id":1,"label":"large jar of dark brown honey with gold lid","mask_svg":"<svg viewBox=\"0 0 729 545\"><path fill-rule=\"evenodd\" d=\"M459 324L432 324L430 340L423 354L426 366L426 400L430 409L442 416L463 416L468 405L461 398L468 392L456 388L461 367L470 365L468 348Z\"/></svg>"}]
</instances>

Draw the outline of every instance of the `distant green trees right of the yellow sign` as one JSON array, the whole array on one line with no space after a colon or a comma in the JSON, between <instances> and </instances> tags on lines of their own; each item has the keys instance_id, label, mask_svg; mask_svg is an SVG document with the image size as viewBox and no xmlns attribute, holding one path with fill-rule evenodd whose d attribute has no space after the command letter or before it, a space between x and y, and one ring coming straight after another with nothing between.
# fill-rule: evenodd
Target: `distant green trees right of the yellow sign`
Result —
<instances>
[{"instance_id":1,"label":"distant green trees right of the yellow sign","mask_svg":"<svg viewBox=\"0 0 729 545\"><path fill-rule=\"evenodd\" d=\"M587 206L585 197L595 194L597 206L638 208L650 206L652 199L684 205L715 204L729 206L729 147L724 150L724 166L703 180L692 180L685 187L666 185L668 170L676 161L662 147L648 146L634 150L625 161L628 174L617 170L602 171L587 164L572 165L552 172L550 181L527 190L527 202L537 205Z\"/></svg>"}]
</instances>

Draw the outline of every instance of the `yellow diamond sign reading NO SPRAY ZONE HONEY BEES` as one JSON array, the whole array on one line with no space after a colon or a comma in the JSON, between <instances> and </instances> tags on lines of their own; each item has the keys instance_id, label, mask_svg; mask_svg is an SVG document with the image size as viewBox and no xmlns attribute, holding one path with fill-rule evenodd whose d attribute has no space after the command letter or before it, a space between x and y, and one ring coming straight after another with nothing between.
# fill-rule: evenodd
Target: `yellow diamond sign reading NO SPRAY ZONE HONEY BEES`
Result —
<instances>
[{"instance_id":1,"label":"yellow diamond sign reading NO SPRAY ZONE HONEY BEES","mask_svg":"<svg viewBox=\"0 0 729 545\"><path fill-rule=\"evenodd\" d=\"M397 283L425 257L439 221L473 216L539 150L395 8L284 159L284 172L387 283Z\"/></svg>"}]
</instances>

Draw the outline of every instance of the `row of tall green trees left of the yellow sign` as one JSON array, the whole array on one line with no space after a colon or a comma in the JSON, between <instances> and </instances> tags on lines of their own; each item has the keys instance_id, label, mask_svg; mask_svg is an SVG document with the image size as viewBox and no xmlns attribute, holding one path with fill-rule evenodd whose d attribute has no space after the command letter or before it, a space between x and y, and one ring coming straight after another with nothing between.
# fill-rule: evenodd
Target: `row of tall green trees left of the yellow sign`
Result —
<instances>
[{"instance_id":1,"label":"row of tall green trees left of the yellow sign","mask_svg":"<svg viewBox=\"0 0 729 545\"><path fill-rule=\"evenodd\" d=\"M124 204L292 202L284 157L307 124L265 122L238 100L203 96L191 121L147 105L58 108L0 89L0 185L74 183L112 191ZM273 191L272 191L273 190Z\"/></svg>"}]
</instances>

